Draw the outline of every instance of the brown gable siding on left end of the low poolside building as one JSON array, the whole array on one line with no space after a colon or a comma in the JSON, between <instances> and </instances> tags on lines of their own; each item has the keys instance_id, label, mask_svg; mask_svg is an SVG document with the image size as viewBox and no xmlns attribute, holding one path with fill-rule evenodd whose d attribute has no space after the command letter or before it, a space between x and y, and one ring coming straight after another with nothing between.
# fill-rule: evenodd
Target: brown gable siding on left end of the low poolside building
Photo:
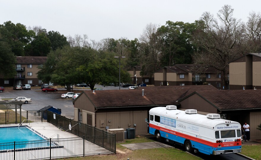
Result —
<instances>
[{"instance_id":1,"label":"brown gable siding on left end of the low poolside building","mask_svg":"<svg viewBox=\"0 0 261 160\"><path fill-rule=\"evenodd\" d=\"M74 106L77 106L77 108L81 110L95 112L95 107L93 103L90 102L90 99L84 93L77 97L77 99L74 101Z\"/></svg>"}]
</instances>

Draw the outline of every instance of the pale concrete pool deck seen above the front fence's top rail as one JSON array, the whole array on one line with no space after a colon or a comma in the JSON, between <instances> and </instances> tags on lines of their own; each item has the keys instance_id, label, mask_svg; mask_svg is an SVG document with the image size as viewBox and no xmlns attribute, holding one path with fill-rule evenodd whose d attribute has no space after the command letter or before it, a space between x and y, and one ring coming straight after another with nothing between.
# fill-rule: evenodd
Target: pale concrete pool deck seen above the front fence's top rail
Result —
<instances>
[{"instance_id":1,"label":"pale concrete pool deck seen above the front fence's top rail","mask_svg":"<svg viewBox=\"0 0 261 160\"><path fill-rule=\"evenodd\" d=\"M41 133L47 139L50 137L57 138L57 134L59 135L59 138L77 137L77 135L74 135L69 132L65 132L48 122L23 123L23 126L25 126L25 125L27 125L28 127L31 127L32 129L36 130L37 132ZM19 126L19 124L0 125L0 127L10 127L10 126Z\"/></svg>"}]
</instances>

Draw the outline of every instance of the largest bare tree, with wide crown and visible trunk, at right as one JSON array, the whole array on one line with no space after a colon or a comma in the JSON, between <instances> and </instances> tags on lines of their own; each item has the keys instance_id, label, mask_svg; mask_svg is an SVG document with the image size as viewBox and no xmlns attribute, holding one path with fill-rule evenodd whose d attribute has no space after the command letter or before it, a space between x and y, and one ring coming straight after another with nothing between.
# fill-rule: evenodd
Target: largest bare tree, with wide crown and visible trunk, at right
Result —
<instances>
[{"instance_id":1,"label":"largest bare tree, with wide crown and visible trunk, at right","mask_svg":"<svg viewBox=\"0 0 261 160\"><path fill-rule=\"evenodd\" d=\"M200 27L194 32L194 42L201 51L193 56L193 62L203 68L217 69L225 89L228 63L245 52L241 47L245 42L243 23L233 17L233 11L230 5L223 6L217 14L218 19L204 12L198 22Z\"/></svg>"}]
</instances>

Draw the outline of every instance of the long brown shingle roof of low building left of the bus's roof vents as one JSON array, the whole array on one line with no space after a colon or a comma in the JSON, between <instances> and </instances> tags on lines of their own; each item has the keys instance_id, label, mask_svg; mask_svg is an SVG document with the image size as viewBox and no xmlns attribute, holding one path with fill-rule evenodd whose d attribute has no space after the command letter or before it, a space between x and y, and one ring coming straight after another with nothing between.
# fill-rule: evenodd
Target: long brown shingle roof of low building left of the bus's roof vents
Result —
<instances>
[{"instance_id":1,"label":"long brown shingle roof of low building left of the bus's roof vents","mask_svg":"<svg viewBox=\"0 0 261 160\"><path fill-rule=\"evenodd\" d=\"M144 96L142 90L144 89ZM107 107L135 107L135 106L158 106L158 105L177 105L179 99L187 95L202 90L216 89L210 86L200 87L139 87L139 89L128 90L104 90L104 91L84 91L96 108Z\"/></svg>"}]
</instances>

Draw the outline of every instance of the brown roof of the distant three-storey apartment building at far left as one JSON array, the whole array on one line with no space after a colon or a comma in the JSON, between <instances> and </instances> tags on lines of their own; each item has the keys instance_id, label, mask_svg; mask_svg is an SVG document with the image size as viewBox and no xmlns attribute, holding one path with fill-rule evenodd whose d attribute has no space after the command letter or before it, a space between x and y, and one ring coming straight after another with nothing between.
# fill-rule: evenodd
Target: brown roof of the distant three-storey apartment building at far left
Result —
<instances>
[{"instance_id":1,"label":"brown roof of the distant three-storey apartment building at far left","mask_svg":"<svg viewBox=\"0 0 261 160\"><path fill-rule=\"evenodd\" d=\"M47 57L36 57L36 56L24 56L16 57L17 63L19 64L43 64L47 61Z\"/></svg>"}]
</instances>

